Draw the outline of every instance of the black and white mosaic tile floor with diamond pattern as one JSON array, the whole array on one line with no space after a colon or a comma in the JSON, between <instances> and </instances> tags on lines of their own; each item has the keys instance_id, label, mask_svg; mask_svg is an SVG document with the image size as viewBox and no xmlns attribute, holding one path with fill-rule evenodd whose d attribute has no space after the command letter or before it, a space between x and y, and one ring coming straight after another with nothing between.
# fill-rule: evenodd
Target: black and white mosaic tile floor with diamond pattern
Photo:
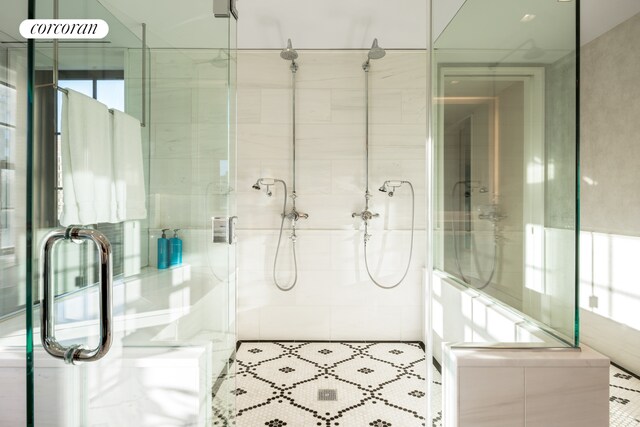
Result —
<instances>
[{"instance_id":1,"label":"black and white mosaic tile floor with diamond pattern","mask_svg":"<svg viewBox=\"0 0 640 427\"><path fill-rule=\"evenodd\" d=\"M426 426L425 369L412 343L244 343L235 374L216 387L212 425ZM434 373L432 427L440 427ZM640 380L612 366L610 384L610 426L640 427Z\"/></svg>"}]
</instances>

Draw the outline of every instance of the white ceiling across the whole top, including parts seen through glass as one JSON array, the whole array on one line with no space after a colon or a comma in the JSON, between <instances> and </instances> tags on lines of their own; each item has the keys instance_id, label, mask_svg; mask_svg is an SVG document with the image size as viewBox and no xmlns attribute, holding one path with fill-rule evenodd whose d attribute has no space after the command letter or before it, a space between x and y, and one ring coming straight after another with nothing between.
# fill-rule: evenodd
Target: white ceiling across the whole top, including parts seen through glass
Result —
<instances>
[{"instance_id":1,"label":"white ceiling across the whole top, including parts seen through glass","mask_svg":"<svg viewBox=\"0 0 640 427\"><path fill-rule=\"evenodd\" d=\"M72 2L83 1L60 2L66 8ZM0 14L0 41L23 40L18 26L26 15L27 2L8 3ZM215 46L216 40L226 39L228 29L222 25L224 20L213 21L213 0L188 0L180 2L179 7L175 0L100 0L100 3L137 36L141 35L140 23L146 22L151 47L225 47ZM437 17L442 22L437 22L436 28L444 28L463 3L464 0L447 0L451 16ZM37 0L39 8L50 4L51 0ZM378 37L389 49L424 48L427 4L426 0L241 0L238 47L281 49L291 37L301 49L365 49L370 40ZM583 44L640 13L638 0L582 0L581 5Z\"/></svg>"}]
</instances>

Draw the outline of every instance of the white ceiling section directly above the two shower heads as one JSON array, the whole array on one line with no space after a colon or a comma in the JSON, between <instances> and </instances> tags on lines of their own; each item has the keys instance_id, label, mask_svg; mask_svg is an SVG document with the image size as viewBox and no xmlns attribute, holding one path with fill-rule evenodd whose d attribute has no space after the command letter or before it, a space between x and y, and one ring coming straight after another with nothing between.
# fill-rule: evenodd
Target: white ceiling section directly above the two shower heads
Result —
<instances>
[{"instance_id":1,"label":"white ceiling section directly above the two shower heads","mask_svg":"<svg viewBox=\"0 0 640 427\"><path fill-rule=\"evenodd\" d=\"M238 10L239 48L281 48L288 37L299 49L365 49L375 37L390 49L427 43L425 0L239 0Z\"/></svg>"}]
</instances>

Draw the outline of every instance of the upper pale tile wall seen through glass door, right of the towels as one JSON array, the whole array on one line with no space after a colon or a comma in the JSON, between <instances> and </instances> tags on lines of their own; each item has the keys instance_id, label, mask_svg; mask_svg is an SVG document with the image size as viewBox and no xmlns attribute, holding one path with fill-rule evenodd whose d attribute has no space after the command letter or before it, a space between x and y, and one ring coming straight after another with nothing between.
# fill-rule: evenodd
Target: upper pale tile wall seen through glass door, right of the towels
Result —
<instances>
[{"instance_id":1,"label":"upper pale tile wall seen through glass door, right of the towels","mask_svg":"<svg viewBox=\"0 0 640 427\"><path fill-rule=\"evenodd\" d=\"M151 229L204 229L227 212L217 197L228 190L230 157L227 70L210 61L218 53L151 53Z\"/></svg>"}]
</instances>

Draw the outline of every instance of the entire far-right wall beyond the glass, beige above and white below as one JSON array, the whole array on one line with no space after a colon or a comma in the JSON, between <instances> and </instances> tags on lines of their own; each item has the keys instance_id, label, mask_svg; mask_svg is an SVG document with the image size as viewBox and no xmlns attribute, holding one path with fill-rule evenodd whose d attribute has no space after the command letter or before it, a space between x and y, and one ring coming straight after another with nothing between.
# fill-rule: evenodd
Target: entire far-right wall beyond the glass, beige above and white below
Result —
<instances>
[{"instance_id":1,"label":"entire far-right wall beyond the glass, beige above and white below","mask_svg":"<svg viewBox=\"0 0 640 427\"><path fill-rule=\"evenodd\" d=\"M583 342L640 373L640 15L581 52ZM592 298L590 298L592 297Z\"/></svg>"}]
</instances>

